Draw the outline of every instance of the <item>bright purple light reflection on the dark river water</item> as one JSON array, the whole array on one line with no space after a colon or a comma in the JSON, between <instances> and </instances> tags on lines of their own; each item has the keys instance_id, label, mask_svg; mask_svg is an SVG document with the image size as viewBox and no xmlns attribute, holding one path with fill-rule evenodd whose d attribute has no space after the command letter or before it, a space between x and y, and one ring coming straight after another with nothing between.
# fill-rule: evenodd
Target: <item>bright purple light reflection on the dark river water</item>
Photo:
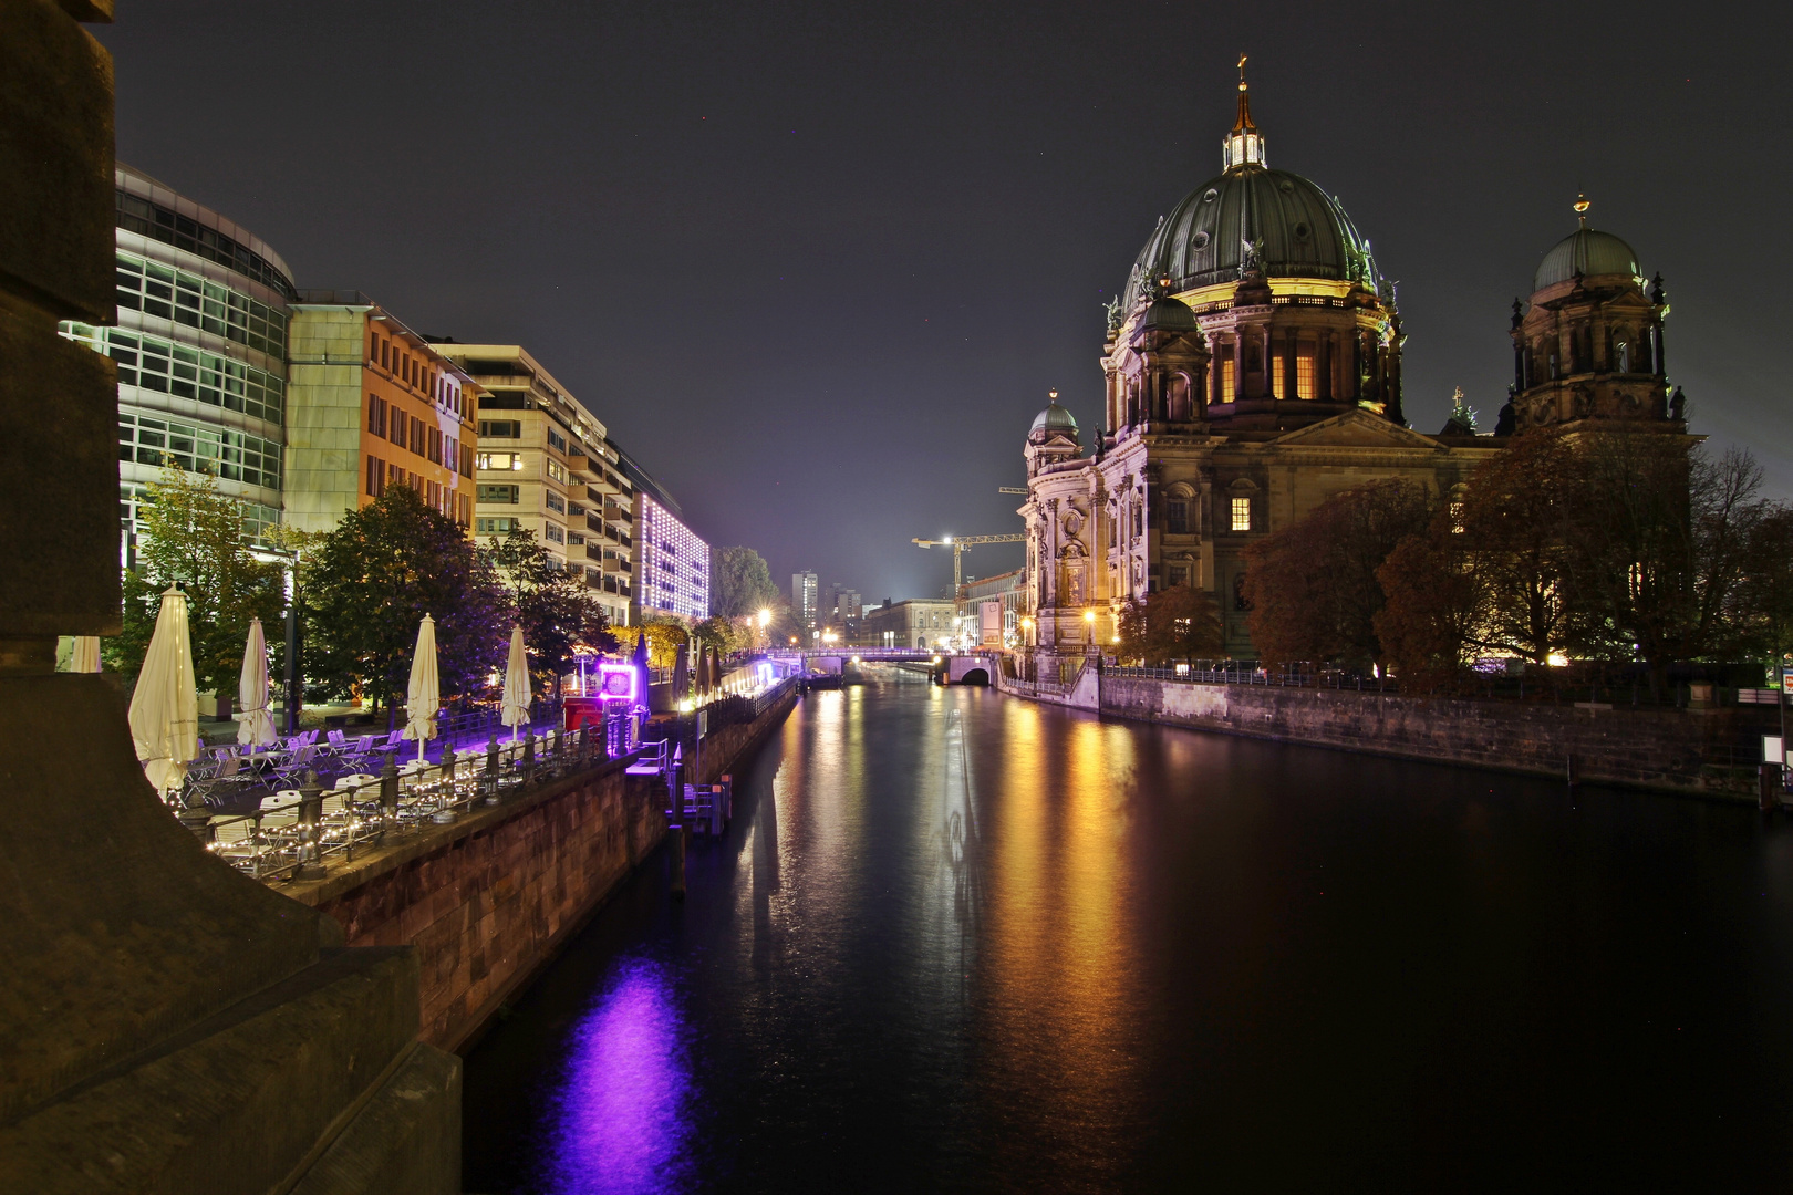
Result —
<instances>
[{"instance_id":1,"label":"bright purple light reflection on the dark river water","mask_svg":"<svg viewBox=\"0 0 1793 1195\"><path fill-rule=\"evenodd\" d=\"M572 1030L547 1179L563 1195L678 1191L690 1179L692 1079L672 980L626 960Z\"/></svg>"}]
</instances>

